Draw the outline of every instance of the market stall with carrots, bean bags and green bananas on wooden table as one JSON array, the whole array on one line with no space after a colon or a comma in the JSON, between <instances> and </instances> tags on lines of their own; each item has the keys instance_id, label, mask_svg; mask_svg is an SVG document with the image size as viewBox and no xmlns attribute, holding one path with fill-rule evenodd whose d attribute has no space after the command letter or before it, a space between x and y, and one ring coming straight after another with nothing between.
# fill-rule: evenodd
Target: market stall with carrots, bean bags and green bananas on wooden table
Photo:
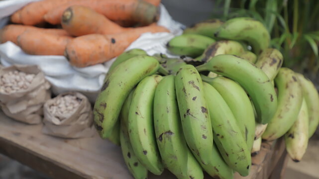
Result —
<instances>
[{"instance_id":1,"label":"market stall with carrots, bean bags and green bananas on wooden table","mask_svg":"<svg viewBox=\"0 0 319 179\"><path fill-rule=\"evenodd\" d=\"M185 26L161 0L0 1L0 152L56 179L283 179L319 93L273 14L227 4Z\"/></svg>"}]
</instances>

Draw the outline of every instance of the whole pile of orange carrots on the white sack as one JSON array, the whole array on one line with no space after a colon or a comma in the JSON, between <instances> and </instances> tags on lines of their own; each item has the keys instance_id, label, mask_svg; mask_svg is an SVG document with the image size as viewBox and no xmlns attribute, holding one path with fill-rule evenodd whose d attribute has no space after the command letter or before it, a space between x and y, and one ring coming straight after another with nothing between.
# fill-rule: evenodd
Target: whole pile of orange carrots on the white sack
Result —
<instances>
[{"instance_id":1,"label":"whole pile of orange carrots on the white sack","mask_svg":"<svg viewBox=\"0 0 319 179\"><path fill-rule=\"evenodd\" d=\"M75 67L104 63L156 25L160 0L41 0L11 15L0 43L11 41L32 55L64 55ZM51 28L41 28L51 24ZM57 26L60 28L52 28ZM61 28L62 27L62 28Z\"/></svg>"}]
</instances>

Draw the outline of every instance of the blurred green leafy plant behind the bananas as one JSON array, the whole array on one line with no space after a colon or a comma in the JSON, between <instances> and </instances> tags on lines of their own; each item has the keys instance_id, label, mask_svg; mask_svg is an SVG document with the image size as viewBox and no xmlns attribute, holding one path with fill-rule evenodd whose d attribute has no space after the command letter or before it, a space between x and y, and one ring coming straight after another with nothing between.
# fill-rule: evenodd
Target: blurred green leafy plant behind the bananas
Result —
<instances>
[{"instance_id":1,"label":"blurred green leafy plant behind the bananas","mask_svg":"<svg viewBox=\"0 0 319 179\"><path fill-rule=\"evenodd\" d=\"M216 0L214 8L213 18L260 20L271 34L271 46L284 55L283 66L317 76L319 0Z\"/></svg>"}]
</instances>

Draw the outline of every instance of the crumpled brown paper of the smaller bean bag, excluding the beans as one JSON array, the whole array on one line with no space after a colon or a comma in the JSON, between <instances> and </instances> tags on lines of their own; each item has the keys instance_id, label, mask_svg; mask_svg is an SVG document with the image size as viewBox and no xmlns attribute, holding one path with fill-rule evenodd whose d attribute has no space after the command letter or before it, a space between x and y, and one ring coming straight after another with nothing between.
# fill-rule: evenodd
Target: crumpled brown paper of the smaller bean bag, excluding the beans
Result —
<instances>
[{"instance_id":1,"label":"crumpled brown paper of the smaller bean bag, excluding the beans","mask_svg":"<svg viewBox=\"0 0 319 179\"><path fill-rule=\"evenodd\" d=\"M81 99L80 104L72 113L52 114L49 110L55 101L67 94L72 94ZM43 106L44 134L62 138L85 138L96 134L93 126L93 111L89 99L79 92L64 92L45 102Z\"/></svg>"}]
</instances>

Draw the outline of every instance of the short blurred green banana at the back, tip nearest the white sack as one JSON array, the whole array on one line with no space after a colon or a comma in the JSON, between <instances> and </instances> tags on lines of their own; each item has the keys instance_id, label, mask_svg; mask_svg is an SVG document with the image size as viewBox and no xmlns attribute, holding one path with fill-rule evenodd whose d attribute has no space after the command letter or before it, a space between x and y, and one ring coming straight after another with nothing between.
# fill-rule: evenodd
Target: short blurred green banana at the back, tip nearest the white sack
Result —
<instances>
[{"instance_id":1,"label":"short blurred green banana at the back, tip nearest the white sack","mask_svg":"<svg viewBox=\"0 0 319 179\"><path fill-rule=\"evenodd\" d=\"M214 39L203 35L183 34L172 38L166 46L173 54L197 57L214 42Z\"/></svg>"}]
</instances>

